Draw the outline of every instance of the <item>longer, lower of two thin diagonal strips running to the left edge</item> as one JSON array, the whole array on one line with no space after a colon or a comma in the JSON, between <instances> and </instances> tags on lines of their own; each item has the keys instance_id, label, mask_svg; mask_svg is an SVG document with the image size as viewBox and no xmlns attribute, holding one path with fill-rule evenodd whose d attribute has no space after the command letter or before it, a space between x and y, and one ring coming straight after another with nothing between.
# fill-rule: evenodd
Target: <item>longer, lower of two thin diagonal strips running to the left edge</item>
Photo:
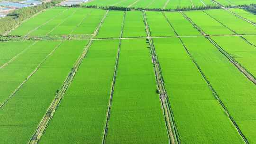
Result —
<instances>
[{"instance_id":1,"label":"longer, lower of two thin diagonal strips running to the left edge","mask_svg":"<svg viewBox=\"0 0 256 144\"><path fill-rule=\"evenodd\" d=\"M8 102L8 100L11 99L14 94L23 86L23 84L25 84L29 80L29 78L37 72L40 66L46 61L49 56L51 56L55 52L55 50L60 46L61 43L62 42L55 46L55 48L41 61L41 63L37 65L36 69L27 76L27 78L9 95L7 99L5 99L3 103L0 104L0 108L2 108Z\"/></svg>"}]
</instances>

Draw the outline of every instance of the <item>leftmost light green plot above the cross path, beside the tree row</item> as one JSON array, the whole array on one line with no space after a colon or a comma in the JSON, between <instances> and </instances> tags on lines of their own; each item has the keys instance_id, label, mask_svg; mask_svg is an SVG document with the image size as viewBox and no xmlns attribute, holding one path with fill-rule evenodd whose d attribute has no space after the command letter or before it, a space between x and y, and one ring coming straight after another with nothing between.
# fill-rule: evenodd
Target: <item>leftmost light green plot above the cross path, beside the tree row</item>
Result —
<instances>
[{"instance_id":1,"label":"leftmost light green plot above the cross path, beside the tree row","mask_svg":"<svg viewBox=\"0 0 256 144\"><path fill-rule=\"evenodd\" d=\"M50 19L58 17L61 15L67 8L64 7L55 7L51 9L47 9L39 13L38 15L24 21L18 28L11 31L11 35L28 35L29 32L36 30L37 27L44 25L44 23L48 22Z\"/></svg>"}]
</instances>

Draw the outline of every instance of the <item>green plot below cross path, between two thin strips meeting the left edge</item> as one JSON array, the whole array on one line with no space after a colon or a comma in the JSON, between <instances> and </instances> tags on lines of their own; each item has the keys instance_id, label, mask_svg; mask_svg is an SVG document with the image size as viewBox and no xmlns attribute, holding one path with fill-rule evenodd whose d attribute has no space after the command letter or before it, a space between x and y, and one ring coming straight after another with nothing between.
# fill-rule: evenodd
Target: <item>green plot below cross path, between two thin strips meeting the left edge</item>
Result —
<instances>
[{"instance_id":1,"label":"green plot below cross path, between two thin strips meeting the left edge","mask_svg":"<svg viewBox=\"0 0 256 144\"><path fill-rule=\"evenodd\" d=\"M20 44L25 42L6 42ZM20 54L14 61L0 69L0 104L3 104L20 84L37 68L48 54L59 44L58 41L38 41Z\"/></svg>"}]
</instances>

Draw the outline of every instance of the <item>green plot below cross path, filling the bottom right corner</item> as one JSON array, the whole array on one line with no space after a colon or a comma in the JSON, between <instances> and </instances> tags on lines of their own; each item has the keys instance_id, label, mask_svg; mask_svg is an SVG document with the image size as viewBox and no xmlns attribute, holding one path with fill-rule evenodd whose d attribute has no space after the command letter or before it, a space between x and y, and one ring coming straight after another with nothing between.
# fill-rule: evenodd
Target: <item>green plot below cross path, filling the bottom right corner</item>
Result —
<instances>
[{"instance_id":1,"label":"green plot below cross path, filling the bottom right corner","mask_svg":"<svg viewBox=\"0 0 256 144\"><path fill-rule=\"evenodd\" d=\"M255 84L206 38L182 39L249 143L256 143Z\"/></svg>"}]
</instances>

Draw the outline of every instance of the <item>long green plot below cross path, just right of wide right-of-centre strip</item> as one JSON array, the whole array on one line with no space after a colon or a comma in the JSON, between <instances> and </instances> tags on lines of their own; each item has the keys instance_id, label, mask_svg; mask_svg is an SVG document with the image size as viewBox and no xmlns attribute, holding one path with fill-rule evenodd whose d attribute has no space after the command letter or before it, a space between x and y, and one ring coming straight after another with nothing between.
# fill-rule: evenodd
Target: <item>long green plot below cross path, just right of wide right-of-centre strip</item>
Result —
<instances>
[{"instance_id":1,"label":"long green plot below cross path, just right of wide right-of-centre strip","mask_svg":"<svg viewBox=\"0 0 256 144\"><path fill-rule=\"evenodd\" d=\"M243 144L179 39L153 41L181 144Z\"/></svg>"}]
</instances>

